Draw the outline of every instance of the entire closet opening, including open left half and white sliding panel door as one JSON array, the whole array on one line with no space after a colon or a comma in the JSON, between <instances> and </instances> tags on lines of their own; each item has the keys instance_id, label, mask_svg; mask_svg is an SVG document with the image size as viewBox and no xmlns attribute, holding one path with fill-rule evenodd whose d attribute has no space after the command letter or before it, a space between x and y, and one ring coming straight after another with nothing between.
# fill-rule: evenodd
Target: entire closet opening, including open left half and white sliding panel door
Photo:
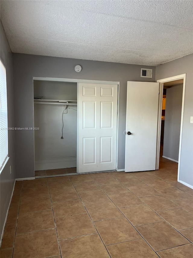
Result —
<instances>
[{"instance_id":1,"label":"entire closet opening, including open left half and white sliding panel door","mask_svg":"<svg viewBox=\"0 0 193 258\"><path fill-rule=\"evenodd\" d=\"M33 86L35 177L116 171L119 82L33 77Z\"/></svg>"}]
</instances>

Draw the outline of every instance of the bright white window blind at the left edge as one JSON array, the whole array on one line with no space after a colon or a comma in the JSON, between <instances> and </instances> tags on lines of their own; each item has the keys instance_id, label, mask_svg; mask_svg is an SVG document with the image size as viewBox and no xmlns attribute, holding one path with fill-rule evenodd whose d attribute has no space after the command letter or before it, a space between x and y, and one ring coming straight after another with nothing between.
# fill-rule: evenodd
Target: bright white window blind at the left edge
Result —
<instances>
[{"instance_id":1,"label":"bright white window blind at the left edge","mask_svg":"<svg viewBox=\"0 0 193 258\"><path fill-rule=\"evenodd\" d=\"M8 157L6 70L0 61L0 171Z\"/></svg>"}]
</instances>

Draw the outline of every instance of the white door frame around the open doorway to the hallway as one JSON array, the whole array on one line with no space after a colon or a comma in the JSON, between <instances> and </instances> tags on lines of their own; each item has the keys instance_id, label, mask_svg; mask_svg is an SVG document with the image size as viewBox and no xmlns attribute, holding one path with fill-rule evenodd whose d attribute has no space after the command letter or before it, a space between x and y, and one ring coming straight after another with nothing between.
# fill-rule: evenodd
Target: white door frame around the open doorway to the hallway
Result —
<instances>
[{"instance_id":1,"label":"white door frame around the open doorway to the hallway","mask_svg":"<svg viewBox=\"0 0 193 258\"><path fill-rule=\"evenodd\" d=\"M182 91L182 111L181 111L181 122L180 122L180 142L179 142L179 156L178 156L178 181L179 181L179 175L180 175L180 162L181 162L181 150L182 150L182 130L183 130L183 118L184 118L186 73L157 80L157 82L160 83L160 86L159 86L159 100L158 100L157 150L156 150L156 170L158 170L159 161L160 161L160 135L161 135L163 83L179 80L179 79L183 79L183 91Z\"/></svg>"}]
</instances>

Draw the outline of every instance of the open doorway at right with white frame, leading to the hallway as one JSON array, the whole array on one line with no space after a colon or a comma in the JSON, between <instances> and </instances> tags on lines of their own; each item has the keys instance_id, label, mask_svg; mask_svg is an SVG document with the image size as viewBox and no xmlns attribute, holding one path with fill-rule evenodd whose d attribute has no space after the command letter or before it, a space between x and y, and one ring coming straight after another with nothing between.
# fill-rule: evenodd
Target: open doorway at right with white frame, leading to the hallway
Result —
<instances>
[{"instance_id":1,"label":"open doorway at right with white frame, leading to the hallway","mask_svg":"<svg viewBox=\"0 0 193 258\"><path fill-rule=\"evenodd\" d=\"M173 181L179 181L185 74L157 82L160 83L160 95L156 169L164 178L169 175Z\"/></svg>"}]
</instances>

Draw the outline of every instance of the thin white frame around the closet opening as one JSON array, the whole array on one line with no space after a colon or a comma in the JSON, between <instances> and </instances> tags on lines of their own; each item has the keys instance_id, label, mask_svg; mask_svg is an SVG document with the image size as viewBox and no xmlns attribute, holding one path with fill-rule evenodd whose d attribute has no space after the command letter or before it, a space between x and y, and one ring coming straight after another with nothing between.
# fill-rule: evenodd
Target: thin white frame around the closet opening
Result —
<instances>
[{"instance_id":1,"label":"thin white frame around the closet opening","mask_svg":"<svg viewBox=\"0 0 193 258\"><path fill-rule=\"evenodd\" d=\"M59 81L59 82L75 82L77 83L77 110L78 110L78 83L99 83L99 84L115 84L118 86L118 94L117 94L117 126L116 126L116 171L118 169L118 130L119 130L119 84L120 82L116 81L99 81L99 80L82 80L82 79L69 79L69 78L52 78L52 77L35 77L34 80L42 80L42 81ZM34 104L33 104L34 105ZM33 106L33 124L34 124L34 106ZM35 136L33 132L33 139L35 142ZM35 167L35 149L34 149L34 167ZM100 173L95 172L95 173ZM78 174L78 113L77 113L77 174ZM83 174L83 173L81 173ZM68 175L68 174L65 174Z\"/></svg>"}]
</instances>

